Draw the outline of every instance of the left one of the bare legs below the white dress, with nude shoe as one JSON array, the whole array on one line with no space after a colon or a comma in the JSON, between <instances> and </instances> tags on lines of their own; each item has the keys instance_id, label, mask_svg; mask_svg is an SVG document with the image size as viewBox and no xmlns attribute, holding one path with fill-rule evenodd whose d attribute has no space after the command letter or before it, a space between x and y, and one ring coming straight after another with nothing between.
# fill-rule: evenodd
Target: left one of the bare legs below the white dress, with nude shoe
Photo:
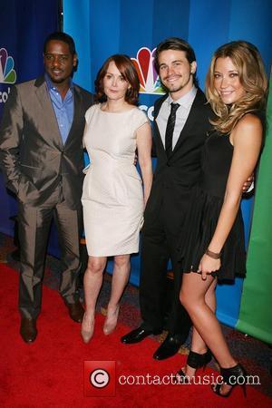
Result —
<instances>
[{"instance_id":1,"label":"left one of the bare legs below the white dress, with nude shoe","mask_svg":"<svg viewBox=\"0 0 272 408\"><path fill-rule=\"evenodd\" d=\"M92 337L97 297L102 287L103 271L107 257L89 257L84 274L85 314L83 317L82 335L85 343Z\"/></svg>"}]
</instances>

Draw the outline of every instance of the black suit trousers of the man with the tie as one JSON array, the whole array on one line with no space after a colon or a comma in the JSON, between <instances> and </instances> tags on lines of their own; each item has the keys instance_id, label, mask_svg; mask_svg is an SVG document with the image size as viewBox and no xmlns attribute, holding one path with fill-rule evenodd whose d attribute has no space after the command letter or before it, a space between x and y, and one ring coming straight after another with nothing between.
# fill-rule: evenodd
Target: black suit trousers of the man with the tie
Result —
<instances>
[{"instance_id":1,"label":"black suit trousers of the man with the tie","mask_svg":"<svg viewBox=\"0 0 272 408\"><path fill-rule=\"evenodd\" d=\"M162 328L165 316L167 266L171 260L174 275L168 330L174 334L188 334L189 315L180 304L182 270L179 262L178 242L182 234L185 209L173 205L170 198L151 199L147 204L141 237L140 305L143 324L148 329ZM155 205L152 203L156 202Z\"/></svg>"}]
</instances>

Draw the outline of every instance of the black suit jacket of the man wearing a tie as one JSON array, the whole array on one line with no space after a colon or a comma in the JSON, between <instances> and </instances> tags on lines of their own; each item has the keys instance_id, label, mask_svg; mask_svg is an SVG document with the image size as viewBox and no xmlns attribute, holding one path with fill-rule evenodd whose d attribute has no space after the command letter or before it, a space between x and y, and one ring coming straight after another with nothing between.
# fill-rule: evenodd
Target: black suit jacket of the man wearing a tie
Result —
<instances>
[{"instance_id":1,"label":"black suit jacket of the man wearing a tie","mask_svg":"<svg viewBox=\"0 0 272 408\"><path fill-rule=\"evenodd\" d=\"M145 218L155 219L163 206L169 224L172 224L173 229L177 229L180 228L187 209L189 209L191 190L200 180L201 148L211 129L209 119L214 114L204 93L198 89L189 117L168 159L156 122L161 104L167 97L168 95L161 97L154 106L153 139L157 166Z\"/></svg>"}]
</instances>

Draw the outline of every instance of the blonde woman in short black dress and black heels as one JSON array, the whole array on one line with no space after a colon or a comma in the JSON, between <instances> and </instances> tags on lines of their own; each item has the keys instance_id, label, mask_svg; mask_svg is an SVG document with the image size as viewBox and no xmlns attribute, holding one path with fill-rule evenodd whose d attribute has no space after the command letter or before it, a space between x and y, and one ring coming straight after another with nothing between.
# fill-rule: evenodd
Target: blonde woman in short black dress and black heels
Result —
<instances>
[{"instance_id":1,"label":"blonde woman in short black dress and black heels","mask_svg":"<svg viewBox=\"0 0 272 408\"><path fill-rule=\"evenodd\" d=\"M245 370L230 354L215 315L218 280L244 277L244 228L239 209L242 187L254 171L263 143L267 78L257 48L244 41L222 45L207 76L207 96L217 119L203 149L203 177L189 217L189 237L181 244L180 301L193 322L186 367L177 374L188 382L215 356L223 384L213 391L227 397L243 384Z\"/></svg>"}]
</instances>

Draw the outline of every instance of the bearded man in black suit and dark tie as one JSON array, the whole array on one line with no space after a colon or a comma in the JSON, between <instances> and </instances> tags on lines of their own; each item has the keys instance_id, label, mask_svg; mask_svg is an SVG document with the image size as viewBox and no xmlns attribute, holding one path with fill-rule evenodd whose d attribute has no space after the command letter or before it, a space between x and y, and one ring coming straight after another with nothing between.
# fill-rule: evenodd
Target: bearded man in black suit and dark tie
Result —
<instances>
[{"instance_id":1,"label":"bearded man in black suit and dark tie","mask_svg":"<svg viewBox=\"0 0 272 408\"><path fill-rule=\"evenodd\" d=\"M174 289L165 341L153 355L157 360L175 355L189 335L190 320L180 304L181 265L177 250L188 214L192 189L199 182L200 150L212 117L196 79L197 63L190 45L169 38L159 44L155 63L169 93L154 106L157 167L142 228L140 305L143 323L121 342L141 342L160 334L165 314L167 265L171 260Z\"/></svg>"}]
</instances>

